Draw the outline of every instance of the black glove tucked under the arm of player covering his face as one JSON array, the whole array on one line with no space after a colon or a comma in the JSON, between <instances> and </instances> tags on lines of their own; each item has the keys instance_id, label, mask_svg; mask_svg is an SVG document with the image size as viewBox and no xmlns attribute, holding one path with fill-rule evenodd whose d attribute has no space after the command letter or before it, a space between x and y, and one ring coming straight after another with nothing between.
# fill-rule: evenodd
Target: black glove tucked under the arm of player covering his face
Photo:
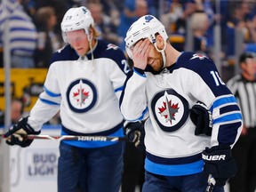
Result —
<instances>
[{"instance_id":1,"label":"black glove tucked under the arm of player covering his face","mask_svg":"<svg viewBox=\"0 0 256 192\"><path fill-rule=\"evenodd\" d=\"M212 135L212 113L202 102L190 108L190 119L196 125L195 135Z\"/></svg>"}]
</instances>

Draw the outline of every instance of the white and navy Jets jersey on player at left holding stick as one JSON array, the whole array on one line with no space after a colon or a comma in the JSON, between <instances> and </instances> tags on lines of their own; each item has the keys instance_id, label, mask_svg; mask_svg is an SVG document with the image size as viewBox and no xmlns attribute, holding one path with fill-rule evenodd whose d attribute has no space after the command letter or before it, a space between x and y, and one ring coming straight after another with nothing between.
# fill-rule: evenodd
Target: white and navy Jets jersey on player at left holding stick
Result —
<instances>
[{"instance_id":1,"label":"white and navy Jets jersey on player at left holding stick","mask_svg":"<svg viewBox=\"0 0 256 192\"><path fill-rule=\"evenodd\" d=\"M54 53L28 124L39 130L60 109L62 134L120 135L124 120L118 100L128 71L124 53L114 44L99 40L84 57L68 44Z\"/></svg>"}]
</instances>

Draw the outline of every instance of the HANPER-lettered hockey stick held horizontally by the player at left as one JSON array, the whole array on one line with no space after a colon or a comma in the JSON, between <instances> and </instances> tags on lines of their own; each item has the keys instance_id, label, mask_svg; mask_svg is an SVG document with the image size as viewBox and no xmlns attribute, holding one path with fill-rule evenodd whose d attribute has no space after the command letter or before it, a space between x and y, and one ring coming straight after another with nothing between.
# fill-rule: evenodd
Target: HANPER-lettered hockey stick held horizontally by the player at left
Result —
<instances>
[{"instance_id":1,"label":"HANPER-lettered hockey stick held horizontally by the player at left","mask_svg":"<svg viewBox=\"0 0 256 192\"><path fill-rule=\"evenodd\" d=\"M4 135L1 135L4 138ZM81 141L123 141L125 137L116 136L84 136L84 135L24 135L27 140L81 140ZM5 139L5 138L4 138Z\"/></svg>"}]
</instances>

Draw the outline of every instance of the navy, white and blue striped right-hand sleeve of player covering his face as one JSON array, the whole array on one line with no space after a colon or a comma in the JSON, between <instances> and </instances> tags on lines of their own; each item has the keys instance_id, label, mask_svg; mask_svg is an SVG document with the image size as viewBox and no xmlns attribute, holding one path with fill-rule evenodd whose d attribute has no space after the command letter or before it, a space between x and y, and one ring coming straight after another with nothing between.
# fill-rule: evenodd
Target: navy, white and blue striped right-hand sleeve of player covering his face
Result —
<instances>
[{"instance_id":1,"label":"navy, white and blue striped right-hand sleeve of player covering his face","mask_svg":"<svg viewBox=\"0 0 256 192\"><path fill-rule=\"evenodd\" d=\"M212 60L196 58L189 63L186 82L189 93L196 100L204 102L212 112L211 145L234 146L242 131L242 114L235 96L221 80ZM192 74L192 75L191 75ZM186 76L186 74L184 74Z\"/></svg>"}]
</instances>

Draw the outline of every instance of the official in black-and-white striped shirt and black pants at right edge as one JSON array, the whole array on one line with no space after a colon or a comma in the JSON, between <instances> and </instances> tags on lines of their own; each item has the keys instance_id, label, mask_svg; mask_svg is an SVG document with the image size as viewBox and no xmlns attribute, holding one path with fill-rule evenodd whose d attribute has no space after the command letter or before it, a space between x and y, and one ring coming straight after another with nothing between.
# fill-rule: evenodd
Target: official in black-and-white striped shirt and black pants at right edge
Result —
<instances>
[{"instance_id":1,"label":"official in black-and-white striped shirt and black pants at right edge","mask_svg":"<svg viewBox=\"0 0 256 192\"><path fill-rule=\"evenodd\" d=\"M230 192L254 192L256 188L256 55L244 52L239 58L241 73L227 86L236 97L244 117L240 138L232 149L238 172L229 180Z\"/></svg>"}]
</instances>

